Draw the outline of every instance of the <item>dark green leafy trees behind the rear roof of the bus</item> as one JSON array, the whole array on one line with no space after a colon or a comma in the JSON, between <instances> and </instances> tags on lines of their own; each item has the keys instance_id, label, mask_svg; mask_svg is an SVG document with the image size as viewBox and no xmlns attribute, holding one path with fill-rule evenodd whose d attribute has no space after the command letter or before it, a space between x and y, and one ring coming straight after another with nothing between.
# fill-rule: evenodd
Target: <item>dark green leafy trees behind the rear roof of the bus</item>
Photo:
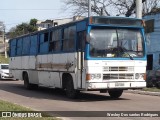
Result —
<instances>
[{"instance_id":1,"label":"dark green leafy trees behind the rear roof of the bus","mask_svg":"<svg viewBox=\"0 0 160 120\"><path fill-rule=\"evenodd\" d=\"M28 23L22 23L17 25L16 27L13 27L9 31L9 38L14 38L17 36L21 36L24 34L28 34L34 31L37 31L37 19L31 19L29 24Z\"/></svg>"}]
</instances>

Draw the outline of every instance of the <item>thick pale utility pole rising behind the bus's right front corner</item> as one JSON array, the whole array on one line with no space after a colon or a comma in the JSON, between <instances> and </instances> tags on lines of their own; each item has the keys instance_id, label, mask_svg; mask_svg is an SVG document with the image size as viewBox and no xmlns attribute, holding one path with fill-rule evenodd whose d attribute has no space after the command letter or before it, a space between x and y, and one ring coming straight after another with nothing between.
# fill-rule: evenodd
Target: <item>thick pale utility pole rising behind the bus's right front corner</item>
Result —
<instances>
[{"instance_id":1,"label":"thick pale utility pole rising behind the bus's right front corner","mask_svg":"<svg viewBox=\"0 0 160 120\"><path fill-rule=\"evenodd\" d=\"M136 17L142 19L142 0L136 0Z\"/></svg>"}]
</instances>

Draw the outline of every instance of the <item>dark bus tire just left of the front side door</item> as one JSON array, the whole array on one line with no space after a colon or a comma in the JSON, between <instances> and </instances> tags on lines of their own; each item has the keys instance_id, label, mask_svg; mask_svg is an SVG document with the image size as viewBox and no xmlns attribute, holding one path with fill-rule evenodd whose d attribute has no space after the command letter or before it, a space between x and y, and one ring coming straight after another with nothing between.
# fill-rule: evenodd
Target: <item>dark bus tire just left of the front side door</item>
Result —
<instances>
[{"instance_id":1,"label":"dark bus tire just left of the front side door","mask_svg":"<svg viewBox=\"0 0 160 120\"><path fill-rule=\"evenodd\" d=\"M74 89L73 80L68 79L66 83L66 95L68 98L74 99L78 95L78 91Z\"/></svg>"}]
</instances>

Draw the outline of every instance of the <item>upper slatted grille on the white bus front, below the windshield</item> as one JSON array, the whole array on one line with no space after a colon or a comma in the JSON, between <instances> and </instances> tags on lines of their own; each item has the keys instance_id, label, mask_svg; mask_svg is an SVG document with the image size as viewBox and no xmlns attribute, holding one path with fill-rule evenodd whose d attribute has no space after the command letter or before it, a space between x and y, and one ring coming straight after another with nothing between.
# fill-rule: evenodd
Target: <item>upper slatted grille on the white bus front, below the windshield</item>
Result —
<instances>
[{"instance_id":1,"label":"upper slatted grille on the white bus front, below the windshield","mask_svg":"<svg viewBox=\"0 0 160 120\"><path fill-rule=\"evenodd\" d=\"M134 67L103 67L103 71L134 71Z\"/></svg>"}]
</instances>

